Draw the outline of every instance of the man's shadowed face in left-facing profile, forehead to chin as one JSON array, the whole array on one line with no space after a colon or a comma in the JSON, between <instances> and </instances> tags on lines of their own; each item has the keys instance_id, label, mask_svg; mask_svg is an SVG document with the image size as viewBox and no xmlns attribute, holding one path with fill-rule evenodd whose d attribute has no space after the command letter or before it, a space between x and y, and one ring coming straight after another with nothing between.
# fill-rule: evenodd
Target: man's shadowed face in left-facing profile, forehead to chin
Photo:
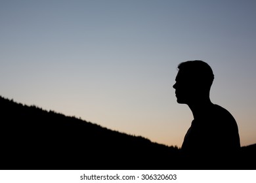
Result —
<instances>
[{"instance_id":1,"label":"man's shadowed face in left-facing profile, forehead to chin","mask_svg":"<svg viewBox=\"0 0 256 183\"><path fill-rule=\"evenodd\" d=\"M176 78L176 83L173 85L177 97L177 103L191 103L195 97L197 87L194 85L190 76L184 71L179 71Z\"/></svg>"}]
</instances>

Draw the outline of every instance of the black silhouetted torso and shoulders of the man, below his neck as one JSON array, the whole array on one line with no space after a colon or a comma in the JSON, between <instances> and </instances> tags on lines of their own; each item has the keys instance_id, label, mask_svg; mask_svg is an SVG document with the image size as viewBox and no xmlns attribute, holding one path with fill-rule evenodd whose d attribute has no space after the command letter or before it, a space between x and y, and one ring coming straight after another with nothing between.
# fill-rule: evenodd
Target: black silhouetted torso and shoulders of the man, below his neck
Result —
<instances>
[{"instance_id":1,"label":"black silhouetted torso and shoulders of the man, below his neck","mask_svg":"<svg viewBox=\"0 0 256 183\"><path fill-rule=\"evenodd\" d=\"M238 125L228 110L219 105L205 108L200 119L193 120L182 144L182 153L194 163L211 167L226 162L240 150Z\"/></svg>"}]
</instances>

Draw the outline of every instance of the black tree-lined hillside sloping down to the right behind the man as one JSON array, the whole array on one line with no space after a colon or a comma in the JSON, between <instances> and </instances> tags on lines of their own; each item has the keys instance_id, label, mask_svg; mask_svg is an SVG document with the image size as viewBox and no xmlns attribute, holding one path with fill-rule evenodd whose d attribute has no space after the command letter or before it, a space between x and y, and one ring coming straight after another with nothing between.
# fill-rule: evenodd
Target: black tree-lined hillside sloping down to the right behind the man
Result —
<instances>
[{"instance_id":1,"label":"black tree-lined hillside sloping down to the right behind the man","mask_svg":"<svg viewBox=\"0 0 256 183\"><path fill-rule=\"evenodd\" d=\"M0 111L0 169L186 169L177 147L1 96ZM234 169L256 169L255 154L242 147Z\"/></svg>"}]
</instances>

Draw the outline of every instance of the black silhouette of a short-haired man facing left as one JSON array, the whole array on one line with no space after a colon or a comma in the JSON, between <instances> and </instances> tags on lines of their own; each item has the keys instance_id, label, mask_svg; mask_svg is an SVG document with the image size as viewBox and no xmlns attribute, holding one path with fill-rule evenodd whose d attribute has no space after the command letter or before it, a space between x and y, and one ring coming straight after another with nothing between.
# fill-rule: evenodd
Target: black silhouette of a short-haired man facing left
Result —
<instances>
[{"instance_id":1,"label":"black silhouette of a short-haired man facing left","mask_svg":"<svg viewBox=\"0 0 256 183\"><path fill-rule=\"evenodd\" d=\"M194 120L182 143L184 166L188 169L232 169L240 150L238 125L228 110L211 103L209 93L214 75L200 60L178 66L173 85L177 103L188 105Z\"/></svg>"}]
</instances>

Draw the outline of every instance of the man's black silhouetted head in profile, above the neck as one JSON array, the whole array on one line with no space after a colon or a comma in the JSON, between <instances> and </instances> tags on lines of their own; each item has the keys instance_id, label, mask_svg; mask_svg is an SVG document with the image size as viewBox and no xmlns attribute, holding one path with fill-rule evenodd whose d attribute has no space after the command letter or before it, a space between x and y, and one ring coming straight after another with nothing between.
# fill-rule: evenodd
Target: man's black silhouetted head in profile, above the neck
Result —
<instances>
[{"instance_id":1,"label":"man's black silhouetted head in profile, above the neck","mask_svg":"<svg viewBox=\"0 0 256 183\"><path fill-rule=\"evenodd\" d=\"M209 98L214 75L211 67L201 60L179 64L176 83L173 85L178 103L191 104Z\"/></svg>"}]
</instances>

